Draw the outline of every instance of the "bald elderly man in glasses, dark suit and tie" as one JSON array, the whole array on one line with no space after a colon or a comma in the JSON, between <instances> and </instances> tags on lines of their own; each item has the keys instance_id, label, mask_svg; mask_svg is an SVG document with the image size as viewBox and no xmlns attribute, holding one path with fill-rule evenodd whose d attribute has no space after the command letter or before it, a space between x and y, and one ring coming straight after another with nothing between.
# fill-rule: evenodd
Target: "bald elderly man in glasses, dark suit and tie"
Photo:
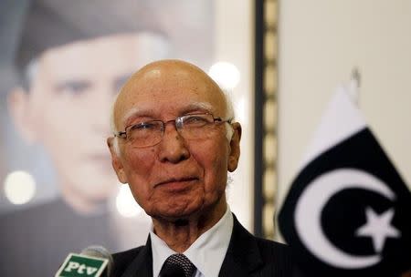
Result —
<instances>
[{"instance_id":1,"label":"bald elderly man in glasses, dark suit and tie","mask_svg":"<svg viewBox=\"0 0 411 277\"><path fill-rule=\"evenodd\" d=\"M145 246L114 255L114 276L290 276L289 250L251 235L227 206L241 126L205 72L178 60L142 67L112 128L113 168L153 220Z\"/></svg>"}]
</instances>

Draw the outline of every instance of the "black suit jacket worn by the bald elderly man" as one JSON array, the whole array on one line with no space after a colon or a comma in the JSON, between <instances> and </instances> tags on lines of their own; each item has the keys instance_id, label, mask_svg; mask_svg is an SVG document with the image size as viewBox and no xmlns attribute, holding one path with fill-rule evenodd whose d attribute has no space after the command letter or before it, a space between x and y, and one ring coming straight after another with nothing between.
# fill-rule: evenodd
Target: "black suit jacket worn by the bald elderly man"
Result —
<instances>
[{"instance_id":1,"label":"black suit jacket worn by the bald elderly man","mask_svg":"<svg viewBox=\"0 0 411 277\"><path fill-rule=\"evenodd\" d=\"M145 246L116 253L113 258L114 277L153 276L150 238ZM218 276L292 276L290 249L279 242L253 236L234 216L233 233Z\"/></svg>"}]
</instances>

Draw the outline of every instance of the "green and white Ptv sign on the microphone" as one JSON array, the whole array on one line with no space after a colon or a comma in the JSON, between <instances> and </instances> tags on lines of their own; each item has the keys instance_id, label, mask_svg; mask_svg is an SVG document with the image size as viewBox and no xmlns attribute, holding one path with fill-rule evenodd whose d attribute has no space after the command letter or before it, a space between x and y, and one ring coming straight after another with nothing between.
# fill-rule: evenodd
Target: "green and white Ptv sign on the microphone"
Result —
<instances>
[{"instance_id":1,"label":"green and white Ptv sign on the microphone","mask_svg":"<svg viewBox=\"0 0 411 277\"><path fill-rule=\"evenodd\" d=\"M70 253L55 277L99 277L108 262L107 259Z\"/></svg>"}]
</instances>

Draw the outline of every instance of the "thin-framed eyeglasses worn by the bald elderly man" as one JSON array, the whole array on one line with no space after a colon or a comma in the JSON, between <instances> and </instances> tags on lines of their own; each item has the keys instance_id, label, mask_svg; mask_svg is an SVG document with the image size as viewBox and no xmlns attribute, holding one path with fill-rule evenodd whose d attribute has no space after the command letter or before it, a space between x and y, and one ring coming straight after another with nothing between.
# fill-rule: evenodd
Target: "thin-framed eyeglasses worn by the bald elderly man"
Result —
<instances>
[{"instance_id":1,"label":"thin-framed eyeglasses worn by the bald elderly man","mask_svg":"<svg viewBox=\"0 0 411 277\"><path fill-rule=\"evenodd\" d=\"M211 114L186 115L166 122L150 120L135 123L114 136L126 139L133 147L143 148L160 143L163 139L165 125L170 122L174 122L176 130L184 139L205 139L217 123L231 123L231 120L214 118Z\"/></svg>"}]
</instances>

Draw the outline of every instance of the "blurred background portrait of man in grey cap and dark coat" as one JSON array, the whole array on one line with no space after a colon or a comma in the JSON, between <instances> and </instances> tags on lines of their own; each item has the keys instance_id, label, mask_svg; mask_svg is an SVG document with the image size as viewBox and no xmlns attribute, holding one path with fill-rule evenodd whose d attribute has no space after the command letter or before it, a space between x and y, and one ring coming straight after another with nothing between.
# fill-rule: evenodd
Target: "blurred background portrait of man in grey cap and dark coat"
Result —
<instances>
[{"instance_id":1,"label":"blurred background portrait of man in grey cap and dark coat","mask_svg":"<svg viewBox=\"0 0 411 277\"><path fill-rule=\"evenodd\" d=\"M90 244L119 251L145 241L145 221L121 226L132 238L117 229L121 219L110 202L119 186L104 138L125 79L174 53L173 35L147 2L27 3L15 51L19 83L8 93L8 110L16 133L47 153L60 197L1 215L1 276L51 276L70 251Z\"/></svg>"}]
</instances>

